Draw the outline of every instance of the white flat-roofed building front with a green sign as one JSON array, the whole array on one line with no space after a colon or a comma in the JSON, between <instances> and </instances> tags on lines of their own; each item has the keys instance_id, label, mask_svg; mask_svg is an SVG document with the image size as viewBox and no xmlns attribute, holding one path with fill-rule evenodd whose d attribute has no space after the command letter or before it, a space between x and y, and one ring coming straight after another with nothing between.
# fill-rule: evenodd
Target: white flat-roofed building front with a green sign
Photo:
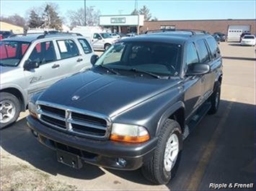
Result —
<instances>
[{"instance_id":1,"label":"white flat-roofed building front with a green sign","mask_svg":"<svg viewBox=\"0 0 256 191\"><path fill-rule=\"evenodd\" d=\"M144 26L144 15L101 15L100 26L112 32L139 32Z\"/></svg>"}]
</instances>

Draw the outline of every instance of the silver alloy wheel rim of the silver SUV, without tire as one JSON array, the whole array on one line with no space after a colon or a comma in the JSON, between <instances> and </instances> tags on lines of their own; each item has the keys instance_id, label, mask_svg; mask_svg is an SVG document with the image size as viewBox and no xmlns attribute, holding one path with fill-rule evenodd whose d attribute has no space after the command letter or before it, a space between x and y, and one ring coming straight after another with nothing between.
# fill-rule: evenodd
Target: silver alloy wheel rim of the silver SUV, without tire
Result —
<instances>
[{"instance_id":1,"label":"silver alloy wheel rim of the silver SUV, without tire","mask_svg":"<svg viewBox=\"0 0 256 191\"><path fill-rule=\"evenodd\" d=\"M7 123L12 120L15 115L15 107L12 101L0 102L0 122Z\"/></svg>"}]
</instances>

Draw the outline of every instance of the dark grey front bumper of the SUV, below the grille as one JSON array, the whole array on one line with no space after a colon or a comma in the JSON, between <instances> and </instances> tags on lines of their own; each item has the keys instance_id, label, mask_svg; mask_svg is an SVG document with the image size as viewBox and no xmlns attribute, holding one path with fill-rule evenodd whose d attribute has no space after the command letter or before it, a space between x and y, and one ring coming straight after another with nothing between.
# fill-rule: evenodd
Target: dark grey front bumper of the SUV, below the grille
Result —
<instances>
[{"instance_id":1,"label":"dark grey front bumper of the SUV, below the grille","mask_svg":"<svg viewBox=\"0 0 256 191\"><path fill-rule=\"evenodd\" d=\"M38 141L50 149L61 149L79 155L84 162L111 169L134 170L140 168L151 158L157 141L155 138L141 144L128 144L110 140L86 139L52 129L41 124L32 116L27 116L27 125L34 135L37 134ZM119 159L124 159L125 165L120 165Z\"/></svg>"}]
</instances>

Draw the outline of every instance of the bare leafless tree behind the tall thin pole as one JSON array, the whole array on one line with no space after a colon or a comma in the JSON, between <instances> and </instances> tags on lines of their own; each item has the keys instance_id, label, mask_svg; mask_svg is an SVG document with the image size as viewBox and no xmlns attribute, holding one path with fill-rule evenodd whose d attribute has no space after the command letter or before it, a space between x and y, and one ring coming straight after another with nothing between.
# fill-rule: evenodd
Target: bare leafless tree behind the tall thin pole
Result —
<instances>
[{"instance_id":1,"label":"bare leafless tree behind the tall thin pole","mask_svg":"<svg viewBox=\"0 0 256 191\"><path fill-rule=\"evenodd\" d=\"M99 25L100 11L94 10L93 6L86 8L86 25L87 26L97 26ZM76 11L69 11L69 21L71 27L83 26L85 25L84 21L84 9L77 9Z\"/></svg>"}]
</instances>

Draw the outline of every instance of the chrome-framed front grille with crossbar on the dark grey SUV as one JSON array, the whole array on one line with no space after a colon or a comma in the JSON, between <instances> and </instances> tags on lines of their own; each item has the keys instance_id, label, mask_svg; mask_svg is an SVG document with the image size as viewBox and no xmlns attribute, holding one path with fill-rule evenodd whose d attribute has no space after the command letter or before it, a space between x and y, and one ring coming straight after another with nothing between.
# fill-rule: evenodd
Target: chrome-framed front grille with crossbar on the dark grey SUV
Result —
<instances>
[{"instance_id":1,"label":"chrome-framed front grille with crossbar on the dark grey SUV","mask_svg":"<svg viewBox=\"0 0 256 191\"><path fill-rule=\"evenodd\" d=\"M78 136L106 139L110 120L106 116L54 103L37 102L38 118L44 124Z\"/></svg>"}]
</instances>

